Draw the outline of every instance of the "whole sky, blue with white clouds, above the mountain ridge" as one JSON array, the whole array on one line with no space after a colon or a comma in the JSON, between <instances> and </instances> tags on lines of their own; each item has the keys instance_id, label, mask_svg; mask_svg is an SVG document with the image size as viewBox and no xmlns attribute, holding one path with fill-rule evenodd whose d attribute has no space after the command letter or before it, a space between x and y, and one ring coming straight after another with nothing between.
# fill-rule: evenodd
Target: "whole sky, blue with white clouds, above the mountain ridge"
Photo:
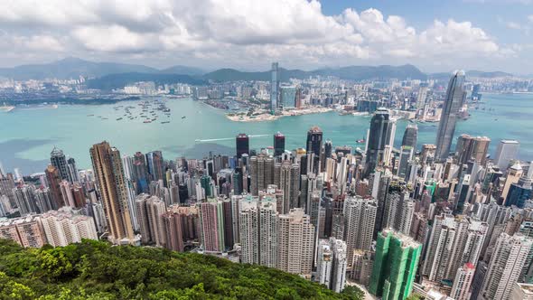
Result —
<instances>
[{"instance_id":1,"label":"whole sky, blue with white clouds, above the mountain ridge","mask_svg":"<svg viewBox=\"0 0 533 300\"><path fill-rule=\"evenodd\" d=\"M23 1L0 10L5 29L0 66L76 56L157 68L181 64L208 70L264 70L259 61L269 60L304 70L410 63L425 72L452 71L457 66L488 71L490 65L490 70L525 75L533 61L527 42L532 5L527 0L431 5Z\"/></svg>"}]
</instances>

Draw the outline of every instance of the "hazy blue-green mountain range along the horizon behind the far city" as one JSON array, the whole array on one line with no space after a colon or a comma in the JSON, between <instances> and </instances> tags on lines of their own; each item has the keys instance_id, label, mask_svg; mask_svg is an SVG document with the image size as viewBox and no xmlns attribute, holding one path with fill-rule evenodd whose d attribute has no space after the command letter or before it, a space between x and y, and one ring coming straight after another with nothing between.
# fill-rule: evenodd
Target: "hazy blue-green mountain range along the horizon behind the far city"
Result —
<instances>
[{"instance_id":1,"label":"hazy blue-green mountain range along the horizon behind the far city","mask_svg":"<svg viewBox=\"0 0 533 300\"><path fill-rule=\"evenodd\" d=\"M334 76L343 80L448 80L451 73L426 74L415 66L348 66L341 68L323 68L318 70L285 70L281 69L280 80L291 78L305 79L310 76ZM495 78L512 76L501 71L485 72L469 70L467 76ZM43 79L75 79L79 76L92 78L88 81L89 88L117 89L136 81L155 81L158 83L182 82L189 84L203 84L207 81L235 81L235 80L270 80L270 71L241 71L235 69L220 69L205 72L198 68L187 66L173 66L158 70L138 64L94 62L78 58L66 58L45 64L22 65L14 68L0 68L0 77L14 80L43 80Z\"/></svg>"}]
</instances>

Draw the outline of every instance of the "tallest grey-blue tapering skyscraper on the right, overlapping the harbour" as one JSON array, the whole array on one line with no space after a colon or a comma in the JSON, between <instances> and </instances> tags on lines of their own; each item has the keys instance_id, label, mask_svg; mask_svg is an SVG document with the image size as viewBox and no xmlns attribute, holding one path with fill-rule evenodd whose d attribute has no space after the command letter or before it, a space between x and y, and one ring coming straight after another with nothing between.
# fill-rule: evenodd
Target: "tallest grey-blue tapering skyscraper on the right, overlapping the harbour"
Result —
<instances>
[{"instance_id":1,"label":"tallest grey-blue tapering skyscraper on the right, overlapping the harbour","mask_svg":"<svg viewBox=\"0 0 533 300\"><path fill-rule=\"evenodd\" d=\"M466 91L464 90L464 71L458 70L448 83L446 98L444 98L441 120L437 129L435 159L442 161L450 153L450 146L454 139L455 124L459 118L459 109L463 106Z\"/></svg>"}]
</instances>

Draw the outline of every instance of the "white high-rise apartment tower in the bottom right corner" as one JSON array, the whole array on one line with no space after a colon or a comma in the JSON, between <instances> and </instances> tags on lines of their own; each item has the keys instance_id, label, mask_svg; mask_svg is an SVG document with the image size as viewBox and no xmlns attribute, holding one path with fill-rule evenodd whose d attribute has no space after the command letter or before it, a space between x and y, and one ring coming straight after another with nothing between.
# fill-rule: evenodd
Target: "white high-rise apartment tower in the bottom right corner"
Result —
<instances>
[{"instance_id":1,"label":"white high-rise apartment tower in the bottom right corner","mask_svg":"<svg viewBox=\"0 0 533 300\"><path fill-rule=\"evenodd\" d=\"M532 245L533 239L520 233L513 236L501 233L483 280L479 298L510 300L511 291L519 280Z\"/></svg>"}]
</instances>

